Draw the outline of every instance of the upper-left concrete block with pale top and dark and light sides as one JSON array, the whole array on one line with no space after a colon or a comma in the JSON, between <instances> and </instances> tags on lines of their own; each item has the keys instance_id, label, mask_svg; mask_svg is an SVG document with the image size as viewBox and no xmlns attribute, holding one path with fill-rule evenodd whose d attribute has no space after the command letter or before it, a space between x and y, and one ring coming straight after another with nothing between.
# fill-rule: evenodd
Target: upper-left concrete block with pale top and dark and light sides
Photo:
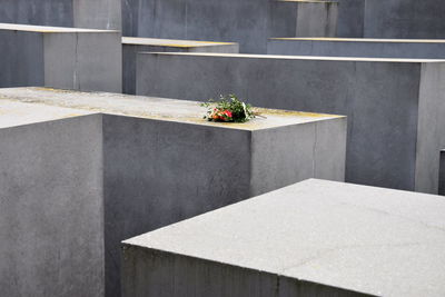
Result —
<instances>
[{"instance_id":1,"label":"upper-left concrete block with pale top and dark and light sides","mask_svg":"<svg viewBox=\"0 0 445 297\"><path fill-rule=\"evenodd\" d=\"M122 89L117 31L0 23L0 38L2 88Z\"/></svg>"}]
</instances>

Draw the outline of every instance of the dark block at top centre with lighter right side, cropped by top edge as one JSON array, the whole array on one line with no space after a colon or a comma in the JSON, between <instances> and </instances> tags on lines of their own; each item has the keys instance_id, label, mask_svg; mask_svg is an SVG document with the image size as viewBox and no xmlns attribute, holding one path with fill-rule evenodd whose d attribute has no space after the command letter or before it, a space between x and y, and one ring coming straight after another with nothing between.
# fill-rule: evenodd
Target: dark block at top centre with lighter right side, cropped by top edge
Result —
<instances>
[{"instance_id":1,"label":"dark block at top centre with lighter right side, cropped by top edge","mask_svg":"<svg viewBox=\"0 0 445 297\"><path fill-rule=\"evenodd\" d=\"M299 12L297 7L300 7ZM303 11L316 11L317 16L307 18ZM330 32L336 21L336 3L125 0L122 13L123 36L229 41L238 42L241 52L266 53L269 37Z\"/></svg>"}]
</instances>

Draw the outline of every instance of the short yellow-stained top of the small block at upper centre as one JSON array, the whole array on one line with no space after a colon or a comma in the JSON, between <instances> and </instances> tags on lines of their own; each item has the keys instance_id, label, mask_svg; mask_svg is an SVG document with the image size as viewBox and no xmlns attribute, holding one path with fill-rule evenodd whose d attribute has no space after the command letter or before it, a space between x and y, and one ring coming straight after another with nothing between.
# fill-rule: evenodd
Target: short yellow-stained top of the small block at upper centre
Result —
<instances>
[{"instance_id":1,"label":"short yellow-stained top of the small block at upper centre","mask_svg":"<svg viewBox=\"0 0 445 297\"><path fill-rule=\"evenodd\" d=\"M135 44L135 46L159 46L159 47L176 47L176 48L198 48L198 47L237 44L236 42L212 42L212 41L139 38L139 37L122 37L122 43Z\"/></svg>"}]
</instances>

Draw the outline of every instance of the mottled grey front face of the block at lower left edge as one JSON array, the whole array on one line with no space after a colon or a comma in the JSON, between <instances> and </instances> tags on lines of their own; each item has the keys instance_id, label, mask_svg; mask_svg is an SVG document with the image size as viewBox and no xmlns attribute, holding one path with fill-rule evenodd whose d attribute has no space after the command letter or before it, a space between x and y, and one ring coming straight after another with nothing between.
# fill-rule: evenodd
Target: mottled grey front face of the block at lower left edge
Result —
<instances>
[{"instance_id":1,"label":"mottled grey front face of the block at lower left edge","mask_svg":"<svg viewBox=\"0 0 445 297\"><path fill-rule=\"evenodd\" d=\"M101 132L100 116L0 129L2 296L103 295Z\"/></svg>"}]
</instances>

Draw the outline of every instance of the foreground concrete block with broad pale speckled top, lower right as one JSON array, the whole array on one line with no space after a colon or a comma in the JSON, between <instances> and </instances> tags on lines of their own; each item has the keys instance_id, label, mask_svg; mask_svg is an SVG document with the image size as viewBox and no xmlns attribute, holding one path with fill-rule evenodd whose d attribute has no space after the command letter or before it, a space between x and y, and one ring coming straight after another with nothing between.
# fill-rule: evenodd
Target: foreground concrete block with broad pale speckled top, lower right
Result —
<instances>
[{"instance_id":1,"label":"foreground concrete block with broad pale speckled top, lower right","mask_svg":"<svg viewBox=\"0 0 445 297\"><path fill-rule=\"evenodd\" d=\"M444 296L444 211L306 180L123 241L123 296Z\"/></svg>"}]
</instances>

